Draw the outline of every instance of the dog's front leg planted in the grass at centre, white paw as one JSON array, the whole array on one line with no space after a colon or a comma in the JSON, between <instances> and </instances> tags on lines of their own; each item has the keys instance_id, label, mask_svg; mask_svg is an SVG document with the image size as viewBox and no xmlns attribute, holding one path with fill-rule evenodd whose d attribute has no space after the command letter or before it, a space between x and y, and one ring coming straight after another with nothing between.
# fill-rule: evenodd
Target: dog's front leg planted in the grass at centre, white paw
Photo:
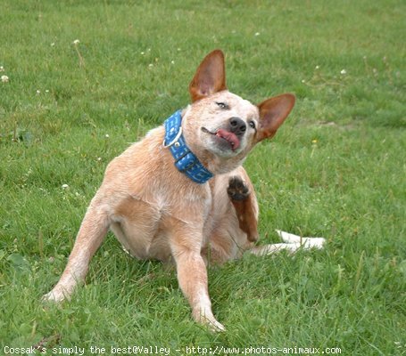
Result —
<instances>
[{"instance_id":1,"label":"dog's front leg planted in the grass at centre, white paw","mask_svg":"<svg viewBox=\"0 0 406 356\"><path fill-rule=\"evenodd\" d=\"M214 331L223 331L225 328L211 312L207 270L201 255L203 226L191 229L185 223L177 225L170 245L177 266L179 287L192 307L195 321Z\"/></svg>"}]
</instances>

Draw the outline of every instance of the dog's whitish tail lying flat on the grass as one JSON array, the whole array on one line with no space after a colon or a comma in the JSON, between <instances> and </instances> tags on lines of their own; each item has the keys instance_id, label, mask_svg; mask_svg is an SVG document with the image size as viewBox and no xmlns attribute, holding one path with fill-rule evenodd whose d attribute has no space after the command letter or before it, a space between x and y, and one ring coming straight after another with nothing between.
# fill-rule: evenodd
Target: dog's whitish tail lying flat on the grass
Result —
<instances>
[{"instance_id":1,"label":"dog's whitish tail lying flat on the grass","mask_svg":"<svg viewBox=\"0 0 406 356\"><path fill-rule=\"evenodd\" d=\"M294 254L299 248L306 250L311 248L321 249L326 243L324 238L302 238L301 236L280 230L277 230L277 233L284 243L253 247L250 252L253 255L273 255L278 254L280 251Z\"/></svg>"}]
</instances>

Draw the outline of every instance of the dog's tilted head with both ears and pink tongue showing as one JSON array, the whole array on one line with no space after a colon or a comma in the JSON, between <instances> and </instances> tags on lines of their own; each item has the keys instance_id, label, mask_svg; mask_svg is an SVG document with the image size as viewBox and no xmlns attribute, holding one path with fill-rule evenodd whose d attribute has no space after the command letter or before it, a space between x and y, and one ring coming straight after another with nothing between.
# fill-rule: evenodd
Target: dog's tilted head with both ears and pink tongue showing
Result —
<instances>
[{"instance_id":1,"label":"dog's tilted head with both ears and pink tongue showing","mask_svg":"<svg viewBox=\"0 0 406 356\"><path fill-rule=\"evenodd\" d=\"M189 85L192 104L183 117L190 149L213 174L240 166L256 143L274 136L294 107L290 93L253 105L226 86L224 54L209 53Z\"/></svg>"}]
</instances>

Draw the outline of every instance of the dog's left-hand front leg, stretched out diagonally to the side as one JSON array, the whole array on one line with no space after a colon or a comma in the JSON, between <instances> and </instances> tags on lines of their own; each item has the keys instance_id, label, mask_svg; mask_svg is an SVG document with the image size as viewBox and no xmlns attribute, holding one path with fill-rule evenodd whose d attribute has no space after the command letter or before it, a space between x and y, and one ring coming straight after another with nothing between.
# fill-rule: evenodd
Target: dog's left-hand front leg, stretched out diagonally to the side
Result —
<instances>
[{"instance_id":1,"label":"dog's left-hand front leg, stretched out diagonally to the side","mask_svg":"<svg viewBox=\"0 0 406 356\"><path fill-rule=\"evenodd\" d=\"M80 225L78 236L61 279L49 293L43 296L43 300L60 302L63 299L70 299L76 285L84 281L90 259L102 244L109 229L108 216L97 204L96 197L93 198Z\"/></svg>"}]
</instances>

